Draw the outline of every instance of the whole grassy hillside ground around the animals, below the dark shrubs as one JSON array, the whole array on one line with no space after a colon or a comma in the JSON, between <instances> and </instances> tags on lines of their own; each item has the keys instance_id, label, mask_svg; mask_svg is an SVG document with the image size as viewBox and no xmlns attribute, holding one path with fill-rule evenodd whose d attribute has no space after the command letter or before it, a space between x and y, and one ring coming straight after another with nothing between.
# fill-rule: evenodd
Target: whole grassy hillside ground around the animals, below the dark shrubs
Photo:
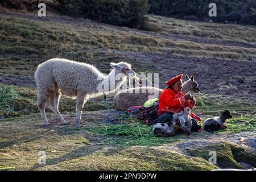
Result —
<instances>
[{"instance_id":1,"label":"whole grassy hillside ground around the animals, below the dark shrubs","mask_svg":"<svg viewBox=\"0 0 256 182\"><path fill-rule=\"evenodd\" d=\"M59 15L0 13L0 169L256 166L256 27L149 19L152 31L139 31ZM104 120L108 106L112 116L123 117L111 110L112 94L108 106L102 97L86 103L84 127L75 129L75 101L64 96L60 110L71 126L61 126L48 109L53 125L45 127L33 75L38 64L53 57L90 63L104 73L110 62L127 61L136 72L159 73L160 88L180 73L195 75L206 105L198 101L195 113L205 119L229 109L233 118L228 130L214 134L155 138L136 117ZM208 163L211 150L219 154L217 166ZM46 165L38 164L39 151L46 151Z\"/></svg>"}]
</instances>

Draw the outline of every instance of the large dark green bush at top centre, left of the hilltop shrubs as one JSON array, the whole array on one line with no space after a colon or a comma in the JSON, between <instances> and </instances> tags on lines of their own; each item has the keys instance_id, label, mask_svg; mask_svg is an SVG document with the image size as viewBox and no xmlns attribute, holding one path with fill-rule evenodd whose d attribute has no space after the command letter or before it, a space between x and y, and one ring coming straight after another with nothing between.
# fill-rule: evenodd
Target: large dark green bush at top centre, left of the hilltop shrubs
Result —
<instances>
[{"instance_id":1,"label":"large dark green bush at top centre, left of the hilltop shrubs","mask_svg":"<svg viewBox=\"0 0 256 182\"><path fill-rule=\"evenodd\" d=\"M60 13L84 17L115 26L143 29L148 0L60 0Z\"/></svg>"}]
</instances>

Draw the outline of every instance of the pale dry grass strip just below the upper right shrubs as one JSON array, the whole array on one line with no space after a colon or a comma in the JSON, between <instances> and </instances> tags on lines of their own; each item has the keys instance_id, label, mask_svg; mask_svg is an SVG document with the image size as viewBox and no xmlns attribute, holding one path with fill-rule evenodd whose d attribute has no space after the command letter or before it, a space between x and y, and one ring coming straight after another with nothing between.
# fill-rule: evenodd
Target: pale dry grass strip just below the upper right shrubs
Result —
<instances>
[{"instance_id":1,"label":"pale dry grass strip just below the upper right shrubs","mask_svg":"<svg viewBox=\"0 0 256 182\"><path fill-rule=\"evenodd\" d=\"M201 23L190 20L179 20L163 16L152 15L150 20L160 24L162 31L180 35L193 35L211 40L225 40L255 45L255 26L240 24ZM187 32L187 33L186 33Z\"/></svg>"}]
</instances>

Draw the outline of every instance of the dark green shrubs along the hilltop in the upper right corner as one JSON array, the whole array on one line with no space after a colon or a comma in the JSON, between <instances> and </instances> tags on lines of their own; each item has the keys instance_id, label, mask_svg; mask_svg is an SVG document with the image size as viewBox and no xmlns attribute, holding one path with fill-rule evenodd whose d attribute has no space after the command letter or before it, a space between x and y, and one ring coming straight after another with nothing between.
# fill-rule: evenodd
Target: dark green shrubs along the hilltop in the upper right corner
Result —
<instances>
[{"instance_id":1,"label":"dark green shrubs along the hilltop in the upper right corner","mask_svg":"<svg viewBox=\"0 0 256 182\"><path fill-rule=\"evenodd\" d=\"M256 24L256 15L251 16L251 7L256 9L254 0L148 0L150 10L148 13L175 18L185 16L195 16L196 19L213 19L214 22L224 22L225 20L237 23ZM209 3L216 3L217 17L209 17Z\"/></svg>"}]
</instances>

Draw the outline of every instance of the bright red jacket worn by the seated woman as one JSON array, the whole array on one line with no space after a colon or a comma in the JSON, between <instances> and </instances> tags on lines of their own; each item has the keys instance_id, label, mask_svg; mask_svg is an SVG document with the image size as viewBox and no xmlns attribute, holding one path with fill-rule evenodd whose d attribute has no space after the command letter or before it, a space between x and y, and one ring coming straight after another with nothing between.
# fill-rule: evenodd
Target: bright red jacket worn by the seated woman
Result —
<instances>
[{"instance_id":1,"label":"bright red jacket worn by the seated woman","mask_svg":"<svg viewBox=\"0 0 256 182\"><path fill-rule=\"evenodd\" d=\"M185 100L184 93L175 93L174 90L168 88L163 91L159 98L159 110L158 114L164 112L178 113L183 111L185 107L193 109L196 105L196 101L193 103L190 100Z\"/></svg>"}]
</instances>

